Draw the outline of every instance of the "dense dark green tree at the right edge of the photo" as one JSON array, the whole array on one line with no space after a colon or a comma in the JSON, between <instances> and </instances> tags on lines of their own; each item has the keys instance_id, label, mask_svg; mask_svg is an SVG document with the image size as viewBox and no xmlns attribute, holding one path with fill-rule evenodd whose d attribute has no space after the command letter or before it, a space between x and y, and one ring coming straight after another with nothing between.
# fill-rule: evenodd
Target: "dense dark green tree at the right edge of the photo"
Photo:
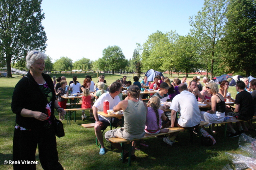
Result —
<instances>
[{"instance_id":1,"label":"dense dark green tree at the right edge of the photo","mask_svg":"<svg viewBox=\"0 0 256 170\"><path fill-rule=\"evenodd\" d=\"M256 75L256 1L230 0L226 16L222 45L229 70Z\"/></svg>"}]
</instances>

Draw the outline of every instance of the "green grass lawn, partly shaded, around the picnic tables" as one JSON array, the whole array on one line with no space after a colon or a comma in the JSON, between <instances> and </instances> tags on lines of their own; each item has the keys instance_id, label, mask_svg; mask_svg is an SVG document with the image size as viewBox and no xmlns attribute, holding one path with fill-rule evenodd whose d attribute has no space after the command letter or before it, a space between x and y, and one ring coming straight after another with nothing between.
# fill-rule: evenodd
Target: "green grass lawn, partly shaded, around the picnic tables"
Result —
<instances>
[{"instance_id":1,"label":"green grass lawn, partly shaded, around the picnic tables","mask_svg":"<svg viewBox=\"0 0 256 170\"><path fill-rule=\"evenodd\" d=\"M51 74L51 76L62 76L63 74ZM86 74L76 74L78 81L82 82ZM132 74L104 74L107 84L127 76L127 80L132 80ZM67 81L72 80L73 74L65 74ZM164 76L168 76L167 74ZM176 75L174 75L176 76ZM180 75L182 77L183 75ZM202 77L202 76L201 76ZM21 76L14 75L14 78L0 78L0 170L12 169L12 165L5 165L4 160L12 160L12 138L14 131L15 114L11 111L11 99L14 86ZM188 78L192 80L192 75ZM93 76L93 81L97 82L97 74ZM235 97L234 87L230 87L229 92ZM85 129L83 123L94 123L92 119L82 121L80 114L76 114L76 123L71 120L71 125L63 121L65 137L57 138L57 149L59 161L66 170L220 170L226 164L232 164L225 152L238 153L238 138L226 139L223 141L223 129L219 128L220 134L216 139L216 145L211 147L200 147L199 138L194 136L194 145L190 144L189 133L187 131L179 133L176 143L167 145L158 138L145 139L146 145L137 145L137 160L129 167L127 162L118 161L120 153L116 149L110 149L110 144L105 141L107 153L99 155L99 148L95 145L94 129ZM86 113L89 115L89 113ZM56 114L57 117L57 114ZM255 127L255 122L254 122ZM108 129L109 130L109 127ZM254 137L256 132L246 133ZM39 161L38 152L36 159ZM39 164L37 169L41 170Z\"/></svg>"}]
</instances>

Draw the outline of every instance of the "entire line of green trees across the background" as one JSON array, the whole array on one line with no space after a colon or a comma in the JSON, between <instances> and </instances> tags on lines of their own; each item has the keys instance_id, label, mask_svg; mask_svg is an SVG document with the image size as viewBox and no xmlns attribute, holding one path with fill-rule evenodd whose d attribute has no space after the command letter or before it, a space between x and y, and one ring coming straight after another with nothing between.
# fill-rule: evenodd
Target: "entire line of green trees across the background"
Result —
<instances>
[{"instance_id":1,"label":"entire line of green trees across the background","mask_svg":"<svg viewBox=\"0 0 256 170\"><path fill-rule=\"evenodd\" d=\"M12 77L11 66L26 70L27 51L46 49L41 2L0 0L0 65L6 65L8 77ZM15 3L21 4L21 7L18 8ZM31 6L31 3L35 5ZM8 13L10 10L12 14ZM13 24L8 25L8 21ZM140 75L154 69L182 72L186 76L205 70L207 76L210 73L211 79L214 75L227 73L256 76L255 0L205 0L202 10L191 16L189 23L192 29L185 36L173 30L152 33L146 42L136 43L129 60L119 46L113 45L103 49L102 57L96 61L82 57L73 63L70 57L60 57L52 63L48 56L45 70L99 70L111 71L112 74L124 70Z\"/></svg>"}]
</instances>

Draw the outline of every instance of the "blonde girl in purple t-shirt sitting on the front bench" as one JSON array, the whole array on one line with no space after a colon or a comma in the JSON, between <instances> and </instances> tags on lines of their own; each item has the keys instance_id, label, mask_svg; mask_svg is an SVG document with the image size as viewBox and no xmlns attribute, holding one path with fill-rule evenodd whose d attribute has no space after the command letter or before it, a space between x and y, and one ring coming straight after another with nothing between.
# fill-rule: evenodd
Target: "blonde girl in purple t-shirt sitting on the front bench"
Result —
<instances>
[{"instance_id":1,"label":"blonde girl in purple t-shirt sitting on the front bench","mask_svg":"<svg viewBox=\"0 0 256 170\"><path fill-rule=\"evenodd\" d=\"M161 118L166 121L168 119L164 115L164 111L159 109L161 106L160 99L157 96L153 96L148 101L148 114L146 119L145 132L150 135L156 135L158 133L167 133L169 129L161 129Z\"/></svg>"}]
</instances>

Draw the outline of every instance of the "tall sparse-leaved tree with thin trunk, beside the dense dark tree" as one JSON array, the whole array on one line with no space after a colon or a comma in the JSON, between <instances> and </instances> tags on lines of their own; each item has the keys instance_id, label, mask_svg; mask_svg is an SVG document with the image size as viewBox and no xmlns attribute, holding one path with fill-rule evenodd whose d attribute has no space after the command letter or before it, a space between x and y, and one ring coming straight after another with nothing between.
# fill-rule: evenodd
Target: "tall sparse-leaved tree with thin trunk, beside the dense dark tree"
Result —
<instances>
[{"instance_id":1,"label":"tall sparse-leaved tree with thin trunk, beside the dense dark tree","mask_svg":"<svg viewBox=\"0 0 256 170\"><path fill-rule=\"evenodd\" d=\"M225 14L226 0L205 0L202 11L197 16L190 17L190 25L193 27L191 33L198 39L198 47L201 47L202 53L209 56L211 79L214 62L218 60L216 47L224 37Z\"/></svg>"}]
</instances>

